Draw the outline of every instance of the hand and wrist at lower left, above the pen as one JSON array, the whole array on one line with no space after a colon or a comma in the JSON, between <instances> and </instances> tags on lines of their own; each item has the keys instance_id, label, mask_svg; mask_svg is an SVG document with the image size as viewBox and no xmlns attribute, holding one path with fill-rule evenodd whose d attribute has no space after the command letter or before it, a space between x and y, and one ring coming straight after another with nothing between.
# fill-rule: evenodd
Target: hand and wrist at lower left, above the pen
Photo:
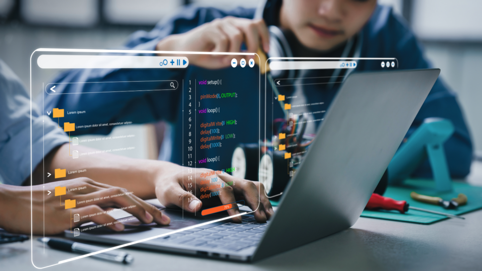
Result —
<instances>
[{"instance_id":1,"label":"hand and wrist at lower left, above the pen","mask_svg":"<svg viewBox=\"0 0 482 271\"><path fill-rule=\"evenodd\" d=\"M66 187L66 195L55 196L55 187ZM75 189L69 191L69 189ZM79 189L83 188L83 189ZM52 191L47 195L47 190ZM106 224L106 227L114 231L124 230L122 223L115 223L116 220L108 214L97 214L104 212L103 208L108 207L130 207L125 211L136 216L144 223L153 221L167 225L170 218L162 215L155 206L143 201L134 194L111 197L113 195L128 193L126 189L113 187L106 184L94 182L88 178L77 178L67 181L52 182L43 185L32 186L32 226L33 234L59 234L66 229L73 229L83 223L92 221L97 224ZM105 198L106 197L106 198ZM30 233L30 187L0 186L0 201L6 204L0 213L0 227L9 232ZM94 200L97 198L104 198ZM75 199L76 207L72 210L65 209L65 200ZM44 201L45 200L45 201ZM89 201L93 200L93 201ZM89 201L89 202L87 202ZM62 204L62 205L61 205ZM80 221L74 222L73 215L79 214ZM95 214L93 216L90 216ZM44 220L45 218L45 220Z\"/></svg>"}]
</instances>

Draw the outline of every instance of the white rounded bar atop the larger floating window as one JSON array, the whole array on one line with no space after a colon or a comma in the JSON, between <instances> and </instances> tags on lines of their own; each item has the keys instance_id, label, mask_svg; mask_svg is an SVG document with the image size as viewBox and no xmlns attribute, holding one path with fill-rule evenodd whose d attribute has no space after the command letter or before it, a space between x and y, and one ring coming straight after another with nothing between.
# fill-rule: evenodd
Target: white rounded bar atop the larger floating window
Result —
<instances>
[{"instance_id":1,"label":"white rounded bar atop the larger floating window","mask_svg":"<svg viewBox=\"0 0 482 271\"><path fill-rule=\"evenodd\" d=\"M186 68L189 60L170 56L41 55L37 64L42 69L171 69Z\"/></svg>"}]
</instances>

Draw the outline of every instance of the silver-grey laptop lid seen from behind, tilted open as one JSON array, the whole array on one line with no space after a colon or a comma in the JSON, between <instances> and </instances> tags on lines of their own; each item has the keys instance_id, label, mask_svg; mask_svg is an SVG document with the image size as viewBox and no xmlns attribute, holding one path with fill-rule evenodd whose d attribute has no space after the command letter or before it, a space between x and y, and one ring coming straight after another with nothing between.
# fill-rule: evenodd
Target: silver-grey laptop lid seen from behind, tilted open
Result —
<instances>
[{"instance_id":1,"label":"silver-grey laptop lid seen from behind, tilted open","mask_svg":"<svg viewBox=\"0 0 482 271\"><path fill-rule=\"evenodd\" d=\"M347 77L253 260L356 222L439 73L426 69Z\"/></svg>"}]
</instances>

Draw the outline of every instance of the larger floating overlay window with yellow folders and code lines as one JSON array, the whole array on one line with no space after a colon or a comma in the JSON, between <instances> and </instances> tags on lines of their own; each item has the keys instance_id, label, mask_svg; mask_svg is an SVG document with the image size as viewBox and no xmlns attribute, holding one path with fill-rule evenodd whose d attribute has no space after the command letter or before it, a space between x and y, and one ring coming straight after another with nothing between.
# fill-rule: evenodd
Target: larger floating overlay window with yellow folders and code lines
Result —
<instances>
[{"instance_id":1,"label":"larger floating overlay window with yellow folders and code lines","mask_svg":"<svg viewBox=\"0 0 482 271\"><path fill-rule=\"evenodd\" d=\"M244 53L36 50L31 182L45 196L32 198L33 234L128 233L112 248L260 215L264 191L232 163L245 143L260 160L259 64ZM76 256L32 255L38 267Z\"/></svg>"}]
</instances>

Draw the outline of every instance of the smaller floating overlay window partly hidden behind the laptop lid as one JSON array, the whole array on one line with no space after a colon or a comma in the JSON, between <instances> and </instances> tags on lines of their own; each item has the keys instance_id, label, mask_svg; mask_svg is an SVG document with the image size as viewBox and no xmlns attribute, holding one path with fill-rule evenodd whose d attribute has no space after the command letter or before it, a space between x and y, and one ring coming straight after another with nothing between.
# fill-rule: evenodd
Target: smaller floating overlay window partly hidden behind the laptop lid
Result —
<instances>
[{"instance_id":1,"label":"smaller floating overlay window partly hidden behind the laptop lid","mask_svg":"<svg viewBox=\"0 0 482 271\"><path fill-rule=\"evenodd\" d=\"M269 58L262 68L266 125L259 166L267 196L282 196L350 73L397 68L395 58Z\"/></svg>"}]
</instances>

